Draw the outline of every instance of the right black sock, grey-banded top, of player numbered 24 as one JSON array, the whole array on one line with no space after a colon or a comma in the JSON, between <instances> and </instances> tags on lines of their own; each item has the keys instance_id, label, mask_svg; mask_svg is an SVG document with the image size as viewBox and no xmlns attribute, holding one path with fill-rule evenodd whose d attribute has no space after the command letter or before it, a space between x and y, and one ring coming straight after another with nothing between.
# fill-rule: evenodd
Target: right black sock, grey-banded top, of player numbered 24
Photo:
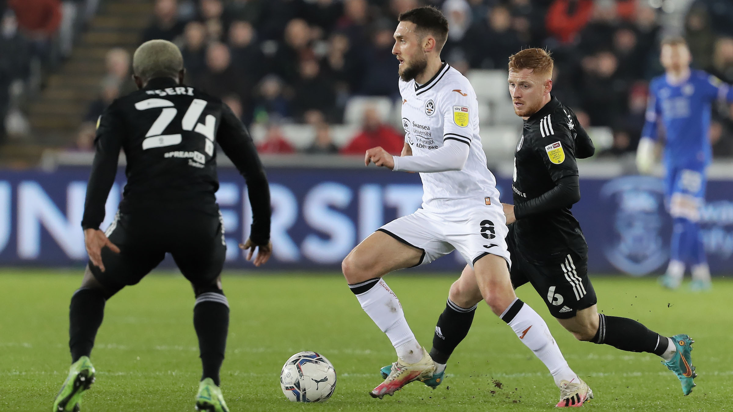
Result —
<instances>
[{"instance_id":1,"label":"right black sock, grey-banded top, of player numbered 24","mask_svg":"<svg viewBox=\"0 0 733 412\"><path fill-rule=\"evenodd\" d=\"M226 334L229 331L229 301L221 290L196 296L194 328L199 336L203 367L201 380L211 378L219 386L219 369L224 361Z\"/></svg>"}]
</instances>

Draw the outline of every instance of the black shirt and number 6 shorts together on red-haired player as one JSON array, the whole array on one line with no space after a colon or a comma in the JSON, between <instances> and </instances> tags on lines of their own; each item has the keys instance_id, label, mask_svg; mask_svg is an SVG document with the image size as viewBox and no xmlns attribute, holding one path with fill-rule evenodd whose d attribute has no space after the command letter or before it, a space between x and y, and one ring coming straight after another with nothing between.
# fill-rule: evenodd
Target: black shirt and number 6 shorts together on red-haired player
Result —
<instances>
[{"instance_id":1,"label":"black shirt and number 6 shorts together on red-haired player","mask_svg":"<svg viewBox=\"0 0 733 412\"><path fill-rule=\"evenodd\" d=\"M530 282L554 317L596 304L588 279L588 246L570 208L581 197L575 158L594 147L575 113L552 98L524 121L512 192L517 221L509 225L512 284Z\"/></svg>"}]
</instances>

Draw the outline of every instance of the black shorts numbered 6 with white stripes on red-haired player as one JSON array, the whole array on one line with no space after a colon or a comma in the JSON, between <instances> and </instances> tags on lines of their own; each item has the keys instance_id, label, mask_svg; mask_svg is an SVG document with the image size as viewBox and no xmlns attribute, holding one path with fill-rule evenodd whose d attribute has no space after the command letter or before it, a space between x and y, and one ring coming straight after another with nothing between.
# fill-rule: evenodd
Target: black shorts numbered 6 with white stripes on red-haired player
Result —
<instances>
[{"instance_id":1,"label":"black shorts numbered 6 with white stripes on red-haired player","mask_svg":"<svg viewBox=\"0 0 733 412\"><path fill-rule=\"evenodd\" d=\"M579 310L597 303L595 290L588 279L587 255L578 256L569 251L562 263L539 265L528 262L517 251L512 226L509 226L507 247L512 256L512 286L517 289L531 283L554 317L568 319Z\"/></svg>"}]
</instances>

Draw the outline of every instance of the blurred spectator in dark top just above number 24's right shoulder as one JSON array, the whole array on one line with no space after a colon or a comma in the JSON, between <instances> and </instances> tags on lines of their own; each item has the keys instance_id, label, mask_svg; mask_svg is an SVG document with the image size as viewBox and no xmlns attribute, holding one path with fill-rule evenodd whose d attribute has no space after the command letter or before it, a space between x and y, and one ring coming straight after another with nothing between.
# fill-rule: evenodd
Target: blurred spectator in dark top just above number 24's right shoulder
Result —
<instances>
[{"instance_id":1,"label":"blurred spectator in dark top just above number 24's right shoulder","mask_svg":"<svg viewBox=\"0 0 733 412\"><path fill-rule=\"evenodd\" d=\"M206 70L196 81L196 86L218 97L231 93L238 95L245 108L250 107L246 78L237 73L231 63L229 48L222 43L211 43L206 49ZM244 115L248 120L248 116Z\"/></svg>"}]
</instances>

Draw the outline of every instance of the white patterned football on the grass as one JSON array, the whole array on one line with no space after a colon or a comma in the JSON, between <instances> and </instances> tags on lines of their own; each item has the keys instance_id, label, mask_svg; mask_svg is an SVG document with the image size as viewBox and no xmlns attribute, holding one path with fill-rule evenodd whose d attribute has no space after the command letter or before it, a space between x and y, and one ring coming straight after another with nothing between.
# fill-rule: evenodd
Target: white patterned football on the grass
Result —
<instances>
[{"instance_id":1,"label":"white patterned football on the grass","mask_svg":"<svg viewBox=\"0 0 733 412\"><path fill-rule=\"evenodd\" d=\"M280 387L292 402L323 402L334 394L336 370L320 353L295 353L282 367Z\"/></svg>"}]
</instances>

